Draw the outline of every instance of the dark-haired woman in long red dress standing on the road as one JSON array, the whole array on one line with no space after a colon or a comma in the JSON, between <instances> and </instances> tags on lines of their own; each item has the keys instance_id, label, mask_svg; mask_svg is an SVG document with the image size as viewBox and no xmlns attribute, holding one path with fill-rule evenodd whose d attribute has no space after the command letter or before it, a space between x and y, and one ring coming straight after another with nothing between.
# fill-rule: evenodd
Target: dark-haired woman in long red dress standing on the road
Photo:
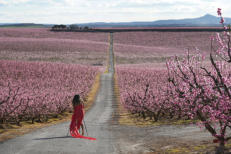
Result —
<instances>
[{"instance_id":1,"label":"dark-haired woman in long red dress standing on the road","mask_svg":"<svg viewBox=\"0 0 231 154\"><path fill-rule=\"evenodd\" d=\"M70 134L72 137L75 138L84 138L89 140L96 140L92 137L86 137L84 135L84 129L83 129L83 118L84 118L84 105L83 102L80 99L79 95L75 95L72 100L72 105L74 108L74 113L72 115L71 124L70 124ZM79 133L79 129L82 129L82 135Z\"/></svg>"}]
</instances>

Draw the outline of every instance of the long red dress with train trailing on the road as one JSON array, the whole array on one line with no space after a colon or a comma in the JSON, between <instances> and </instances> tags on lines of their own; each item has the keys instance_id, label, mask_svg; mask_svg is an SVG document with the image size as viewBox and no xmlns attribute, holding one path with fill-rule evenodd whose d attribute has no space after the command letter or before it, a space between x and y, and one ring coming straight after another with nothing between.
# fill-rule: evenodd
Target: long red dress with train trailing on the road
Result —
<instances>
[{"instance_id":1,"label":"long red dress with train trailing on the road","mask_svg":"<svg viewBox=\"0 0 231 154\"><path fill-rule=\"evenodd\" d=\"M72 115L72 120L70 124L70 134L72 137L75 138L84 138L88 140L96 140L96 138L92 137L86 137L83 135L79 134L79 128L82 125L83 122L83 117L84 117L84 111L83 111L83 104L79 104L75 106L74 108L74 113Z\"/></svg>"}]
</instances>

